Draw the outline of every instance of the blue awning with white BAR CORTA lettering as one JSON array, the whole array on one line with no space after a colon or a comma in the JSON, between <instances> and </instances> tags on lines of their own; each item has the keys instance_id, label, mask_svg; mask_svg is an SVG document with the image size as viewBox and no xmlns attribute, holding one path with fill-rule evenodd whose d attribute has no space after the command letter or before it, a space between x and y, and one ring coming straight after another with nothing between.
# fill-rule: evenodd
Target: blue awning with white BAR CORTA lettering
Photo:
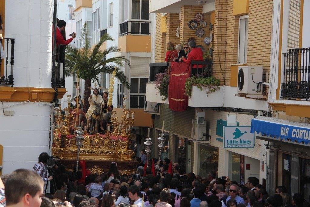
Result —
<instances>
[{"instance_id":1,"label":"blue awning with white BAR CORTA lettering","mask_svg":"<svg viewBox=\"0 0 310 207\"><path fill-rule=\"evenodd\" d=\"M310 142L310 124L257 116L251 121L251 133L261 133L269 138L286 142L298 142L308 145ZM277 137L277 138L274 138Z\"/></svg>"}]
</instances>

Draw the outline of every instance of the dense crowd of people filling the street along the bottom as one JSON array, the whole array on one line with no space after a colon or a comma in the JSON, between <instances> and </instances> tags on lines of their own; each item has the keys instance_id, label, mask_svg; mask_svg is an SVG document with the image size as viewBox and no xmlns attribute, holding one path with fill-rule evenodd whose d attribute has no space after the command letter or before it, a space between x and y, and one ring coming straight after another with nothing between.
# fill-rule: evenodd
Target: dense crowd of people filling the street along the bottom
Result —
<instances>
[{"instance_id":1,"label":"dense crowd of people filling the street along the bottom","mask_svg":"<svg viewBox=\"0 0 310 207\"><path fill-rule=\"evenodd\" d=\"M43 154L43 155L42 155ZM136 173L121 174L112 162L106 173L88 174L83 179L81 168L75 173L58 166L54 177L47 177L46 154L39 156L33 171L18 169L2 175L0 206L102 206L102 207L307 207L299 193L293 197L286 187L278 186L273 195L258 178L249 177L245 185L229 177L216 177L211 171L206 178L184 173L178 163L168 158L156 170L138 167ZM172 168L172 169L171 169ZM169 170L168 170L169 169ZM171 172L172 171L172 172ZM53 180L57 189L44 193L44 182ZM3 181L3 183L2 183Z\"/></svg>"}]
</instances>

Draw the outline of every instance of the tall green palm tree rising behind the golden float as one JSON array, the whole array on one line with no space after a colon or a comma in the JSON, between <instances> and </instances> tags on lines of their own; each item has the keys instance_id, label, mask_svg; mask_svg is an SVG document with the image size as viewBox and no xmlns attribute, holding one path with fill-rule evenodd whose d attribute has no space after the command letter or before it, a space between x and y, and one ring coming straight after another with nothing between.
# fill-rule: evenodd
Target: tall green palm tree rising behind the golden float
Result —
<instances>
[{"instance_id":1,"label":"tall green palm tree rising behind the golden float","mask_svg":"<svg viewBox=\"0 0 310 207\"><path fill-rule=\"evenodd\" d=\"M101 51L100 46L107 40L114 41L114 39L109 34L104 34L99 43L97 43L93 50L90 49L91 43L89 42L87 23L83 25L81 30L80 42L82 47L75 48L70 45L66 48L66 69L65 75L77 75L79 78L85 80L85 90L84 90L84 107L83 110L86 112L89 108L88 97L91 95L91 81L96 80L98 85L99 79L98 74L108 73L112 74L116 67L115 77L120 80L120 82L128 89L130 89L130 83L125 74L122 73L119 67L128 64L130 67L130 61L124 57L111 57L104 60L104 56L107 56L110 52L121 52L116 46L111 46L104 51ZM111 64L112 63L112 64Z\"/></svg>"}]
</instances>

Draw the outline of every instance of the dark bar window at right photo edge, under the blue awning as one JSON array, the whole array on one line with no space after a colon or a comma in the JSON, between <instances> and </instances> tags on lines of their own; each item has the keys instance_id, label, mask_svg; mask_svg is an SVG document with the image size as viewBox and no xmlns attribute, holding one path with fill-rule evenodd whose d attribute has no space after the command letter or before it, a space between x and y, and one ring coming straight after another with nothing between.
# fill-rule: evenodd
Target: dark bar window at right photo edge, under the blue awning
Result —
<instances>
[{"instance_id":1,"label":"dark bar window at right photo edge, under the blue awning","mask_svg":"<svg viewBox=\"0 0 310 207\"><path fill-rule=\"evenodd\" d=\"M300 172L300 193L310 202L310 160L301 159Z\"/></svg>"}]
</instances>

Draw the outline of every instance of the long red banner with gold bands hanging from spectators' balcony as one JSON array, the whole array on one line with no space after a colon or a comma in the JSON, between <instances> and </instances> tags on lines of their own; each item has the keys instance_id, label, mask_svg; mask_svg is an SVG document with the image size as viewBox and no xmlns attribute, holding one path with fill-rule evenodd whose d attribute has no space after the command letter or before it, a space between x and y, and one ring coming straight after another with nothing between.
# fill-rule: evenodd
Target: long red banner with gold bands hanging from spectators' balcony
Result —
<instances>
[{"instance_id":1,"label":"long red banner with gold bands hanging from spectators' balcony","mask_svg":"<svg viewBox=\"0 0 310 207\"><path fill-rule=\"evenodd\" d=\"M182 62L171 62L169 79L169 108L174 111L185 111L188 96L184 94L185 81L190 76L190 65Z\"/></svg>"}]
</instances>

